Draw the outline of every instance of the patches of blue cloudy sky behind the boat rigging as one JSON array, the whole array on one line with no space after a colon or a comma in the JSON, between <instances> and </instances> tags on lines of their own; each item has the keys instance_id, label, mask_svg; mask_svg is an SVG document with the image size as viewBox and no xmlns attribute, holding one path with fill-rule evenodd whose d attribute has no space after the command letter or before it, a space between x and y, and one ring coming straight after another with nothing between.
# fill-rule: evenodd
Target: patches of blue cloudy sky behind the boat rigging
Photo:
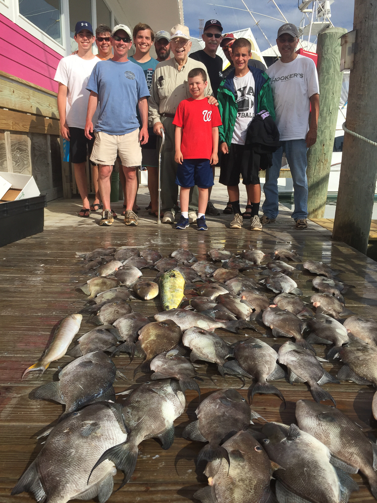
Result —
<instances>
[{"instance_id":1,"label":"patches of blue cloudy sky behind the boat rigging","mask_svg":"<svg viewBox=\"0 0 377 503\"><path fill-rule=\"evenodd\" d=\"M301 3L301 0L299 1ZM302 14L297 7L297 0L275 0L275 2L290 23L300 24ZM245 0L245 4L250 11L281 19L276 7L272 2L268 3L268 0ZM219 5L223 7L218 7ZM334 26L346 28L347 31L352 30L353 5L353 0L335 0L331 5L331 21ZM250 27L260 50L263 51L269 47L268 42L259 28L254 26L252 17L245 12L245 9L241 0L183 0L184 24L190 28L190 34L194 37L199 37L199 19L204 19L204 22L208 19L218 19L224 27L224 33ZM253 15L260 21L259 26L274 45L277 29L284 21ZM314 37L311 41L314 42Z\"/></svg>"}]
</instances>

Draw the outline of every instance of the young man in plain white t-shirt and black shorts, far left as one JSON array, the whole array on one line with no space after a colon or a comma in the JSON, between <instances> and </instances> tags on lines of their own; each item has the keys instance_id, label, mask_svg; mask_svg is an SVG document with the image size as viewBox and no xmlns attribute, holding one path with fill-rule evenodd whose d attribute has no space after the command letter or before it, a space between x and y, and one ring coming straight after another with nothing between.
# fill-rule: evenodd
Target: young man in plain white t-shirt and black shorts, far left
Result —
<instances>
[{"instance_id":1,"label":"young man in plain white t-shirt and black shorts, far left","mask_svg":"<svg viewBox=\"0 0 377 503\"><path fill-rule=\"evenodd\" d=\"M74 167L74 175L78 191L82 199L80 217L88 217L90 213L87 179L86 157L90 155L94 135L88 140L85 136L85 120L90 92L86 90L92 69L101 61L91 51L95 40L91 24L78 21L75 27L74 39L77 42L77 54L71 54L59 61L54 80L59 82L58 110L60 117L60 134L69 141L69 159ZM98 119L98 112L93 123ZM97 166L96 166L96 169ZM98 177L97 177L98 178ZM100 207L100 200L94 201L92 207Z\"/></svg>"}]
</instances>

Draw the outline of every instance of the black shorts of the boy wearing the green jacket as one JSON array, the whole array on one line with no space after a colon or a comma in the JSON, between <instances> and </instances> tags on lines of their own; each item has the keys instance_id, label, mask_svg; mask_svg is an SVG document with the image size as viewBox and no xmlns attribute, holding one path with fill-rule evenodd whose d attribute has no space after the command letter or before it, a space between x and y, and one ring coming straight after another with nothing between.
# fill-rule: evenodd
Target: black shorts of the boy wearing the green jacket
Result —
<instances>
[{"instance_id":1,"label":"black shorts of the boy wearing the green jacket","mask_svg":"<svg viewBox=\"0 0 377 503\"><path fill-rule=\"evenodd\" d=\"M241 175L243 185L260 184L259 168L249 167L248 158L245 155L245 145L231 143L229 153L221 155L219 182L234 187L240 183Z\"/></svg>"}]
</instances>

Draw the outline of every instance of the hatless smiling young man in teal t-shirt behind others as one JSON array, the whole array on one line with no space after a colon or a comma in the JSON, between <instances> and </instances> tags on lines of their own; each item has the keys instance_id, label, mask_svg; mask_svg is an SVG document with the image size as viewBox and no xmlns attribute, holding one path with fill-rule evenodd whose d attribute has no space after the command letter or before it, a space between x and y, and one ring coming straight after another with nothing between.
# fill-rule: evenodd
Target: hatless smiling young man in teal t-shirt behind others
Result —
<instances>
[{"instance_id":1,"label":"hatless smiling young man in teal t-shirt behind others","mask_svg":"<svg viewBox=\"0 0 377 503\"><path fill-rule=\"evenodd\" d=\"M133 30L135 44L135 54L130 57L130 61L138 64L145 75L147 86L150 91L152 86L152 77L157 59L149 54L150 48L154 42L154 33L152 28L145 23L138 23ZM138 119L139 115L138 115ZM141 165L148 171L148 189L150 194L150 203L147 206L150 215L157 215L158 206L158 156L157 156L157 136L153 133L153 128L148 128L148 143L141 147L142 162ZM135 200L136 202L136 200Z\"/></svg>"}]
</instances>

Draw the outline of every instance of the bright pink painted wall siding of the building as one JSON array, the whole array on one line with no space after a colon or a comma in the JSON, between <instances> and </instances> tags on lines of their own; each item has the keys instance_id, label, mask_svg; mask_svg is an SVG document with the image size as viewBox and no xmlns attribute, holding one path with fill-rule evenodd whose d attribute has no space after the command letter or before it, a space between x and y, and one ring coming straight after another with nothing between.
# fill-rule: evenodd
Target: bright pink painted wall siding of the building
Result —
<instances>
[{"instance_id":1,"label":"bright pink painted wall siding of the building","mask_svg":"<svg viewBox=\"0 0 377 503\"><path fill-rule=\"evenodd\" d=\"M37 86L58 91L53 80L63 57L0 14L0 69Z\"/></svg>"}]
</instances>

